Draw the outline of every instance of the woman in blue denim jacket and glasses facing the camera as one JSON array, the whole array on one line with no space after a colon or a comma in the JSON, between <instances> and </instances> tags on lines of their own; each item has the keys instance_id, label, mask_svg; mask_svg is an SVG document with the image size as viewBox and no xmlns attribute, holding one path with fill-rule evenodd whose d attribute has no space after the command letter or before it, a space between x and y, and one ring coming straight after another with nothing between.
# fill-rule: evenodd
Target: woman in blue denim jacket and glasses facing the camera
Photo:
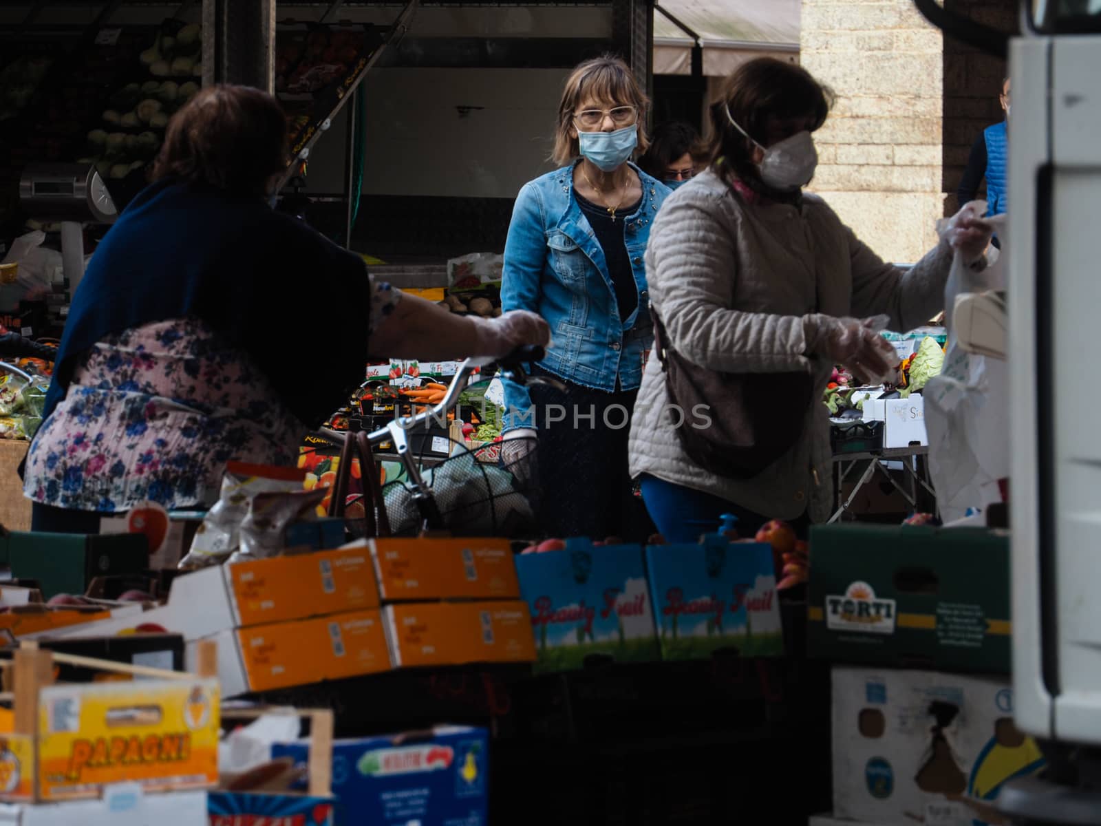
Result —
<instances>
[{"instance_id":1,"label":"woman in blue denim jacket and glasses facing the camera","mask_svg":"<svg viewBox=\"0 0 1101 826\"><path fill-rule=\"evenodd\" d=\"M643 256L669 194L630 163L646 149L647 106L622 61L579 65L558 107L562 169L524 185L509 226L502 308L547 320L554 346L534 370L564 389L505 383L504 459L537 457L528 467L549 536L647 533L626 446L653 340Z\"/></svg>"}]
</instances>

